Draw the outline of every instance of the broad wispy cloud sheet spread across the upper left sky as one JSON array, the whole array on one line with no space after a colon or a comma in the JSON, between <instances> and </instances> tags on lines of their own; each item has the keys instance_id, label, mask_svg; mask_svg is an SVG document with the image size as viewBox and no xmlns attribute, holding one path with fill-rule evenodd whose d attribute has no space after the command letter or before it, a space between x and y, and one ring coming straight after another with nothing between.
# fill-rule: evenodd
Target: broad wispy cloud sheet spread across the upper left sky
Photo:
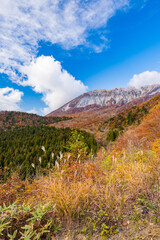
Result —
<instances>
[{"instance_id":1,"label":"broad wispy cloud sheet spread across the upper left sky","mask_svg":"<svg viewBox=\"0 0 160 240\"><path fill-rule=\"evenodd\" d=\"M29 64L37 55L40 41L60 44L65 49L78 45L93 47L87 42L90 30L106 25L116 10L128 6L130 0L5 0L0 7L0 72L17 82L21 64Z\"/></svg>"}]
</instances>

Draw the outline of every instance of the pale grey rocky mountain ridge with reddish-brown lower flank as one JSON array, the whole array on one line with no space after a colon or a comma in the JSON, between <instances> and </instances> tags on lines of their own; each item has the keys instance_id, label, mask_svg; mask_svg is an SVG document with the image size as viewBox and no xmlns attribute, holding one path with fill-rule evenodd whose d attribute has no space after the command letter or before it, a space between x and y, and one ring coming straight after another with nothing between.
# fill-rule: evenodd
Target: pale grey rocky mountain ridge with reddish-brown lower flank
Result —
<instances>
[{"instance_id":1,"label":"pale grey rocky mountain ridge with reddish-brown lower flank","mask_svg":"<svg viewBox=\"0 0 160 240\"><path fill-rule=\"evenodd\" d=\"M80 95L47 116L76 114L111 107L118 108L136 99L141 99L143 102L159 93L160 85L95 90Z\"/></svg>"}]
</instances>

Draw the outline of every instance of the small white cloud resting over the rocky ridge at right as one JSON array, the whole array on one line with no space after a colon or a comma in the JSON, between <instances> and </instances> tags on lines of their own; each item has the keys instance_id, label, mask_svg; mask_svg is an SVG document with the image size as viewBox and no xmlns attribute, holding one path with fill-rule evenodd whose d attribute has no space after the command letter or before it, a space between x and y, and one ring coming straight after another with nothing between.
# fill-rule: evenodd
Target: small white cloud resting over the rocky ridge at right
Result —
<instances>
[{"instance_id":1,"label":"small white cloud resting over the rocky ridge at right","mask_svg":"<svg viewBox=\"0 0 160 240\"><path fill-rule=\"evenodd\" d=\"M146 71L135 74L129 82L129 86L139 88L144 85L160 84L160 73L156 71Z\"/></svg>"}]
</instances>

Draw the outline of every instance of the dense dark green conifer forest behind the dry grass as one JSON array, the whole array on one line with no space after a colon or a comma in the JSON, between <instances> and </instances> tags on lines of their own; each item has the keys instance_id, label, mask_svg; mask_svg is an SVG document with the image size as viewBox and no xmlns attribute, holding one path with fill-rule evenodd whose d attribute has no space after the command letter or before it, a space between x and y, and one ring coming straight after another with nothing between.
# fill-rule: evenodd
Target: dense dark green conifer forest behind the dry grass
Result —
<instances>
[{"instance_id":1,"label":"dense dark green conifer forest behind the dry grass","mask_svg":"<svg viewBox=\"0 0 160 240\"><path fill-rule=\"evenodd\" d=\"M75 138L72 140L72 138ZM53 168L62 154L72 153L77 138L86 146L86 155L96 154L99 146L94 136L80 130L55 127L23 127L0 132L0 170L1 181L7 180L17 172L21 179L34 176L43 169ZM70 145L68 144L70 143ZM77 150L78 151L78 150Z\"/></svg>"}]
</instances>

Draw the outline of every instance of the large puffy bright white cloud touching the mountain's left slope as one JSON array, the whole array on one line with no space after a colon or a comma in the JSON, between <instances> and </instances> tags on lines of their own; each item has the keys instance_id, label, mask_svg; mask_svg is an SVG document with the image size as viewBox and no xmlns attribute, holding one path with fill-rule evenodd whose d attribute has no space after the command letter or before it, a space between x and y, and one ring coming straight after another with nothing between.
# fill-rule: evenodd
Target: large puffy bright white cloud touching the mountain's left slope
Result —
<instances>
[{"instance_id":1,"label":"large puffy bright white cloud touching the mountain's left slope","mask_svg":"<svg viewBox=\"0 0 160 240\"><path fill-rule=\"evenodd\" d=\"M42 93L42 100L48 106L43 113L60 107L69 100L84 93L87 87L75 80L66 70L62 69L60 62L53 57L38 57L28 66L22 66L21 72L28 78L23 80L23 86L31 86L37 93Z\"/></svg>"}]
</instances>

